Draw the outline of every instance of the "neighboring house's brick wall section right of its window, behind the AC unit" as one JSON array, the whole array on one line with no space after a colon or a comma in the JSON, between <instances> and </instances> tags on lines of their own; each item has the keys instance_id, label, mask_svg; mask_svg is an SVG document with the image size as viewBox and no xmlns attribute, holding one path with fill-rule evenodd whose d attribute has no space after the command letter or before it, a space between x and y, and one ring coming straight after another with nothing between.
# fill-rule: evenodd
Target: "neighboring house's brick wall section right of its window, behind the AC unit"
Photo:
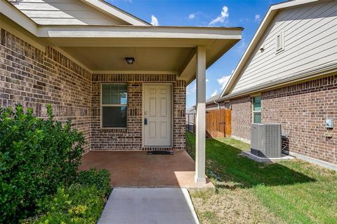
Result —
<instances>
[{"instance_id":1,"label":"neighboring house's brick wall section right of its window, behind the AC unit","mask_svg":"<svg viewBox=\"0 0 337 224\"><path fill-rule=\"evenodd\" d=\"M289 151L337 164L337 74L261 94L263 123L281 123ZM334 128L325 127L326 118ZM326 138L325 133L333 134Z\"/></svg>"}]
</instances>

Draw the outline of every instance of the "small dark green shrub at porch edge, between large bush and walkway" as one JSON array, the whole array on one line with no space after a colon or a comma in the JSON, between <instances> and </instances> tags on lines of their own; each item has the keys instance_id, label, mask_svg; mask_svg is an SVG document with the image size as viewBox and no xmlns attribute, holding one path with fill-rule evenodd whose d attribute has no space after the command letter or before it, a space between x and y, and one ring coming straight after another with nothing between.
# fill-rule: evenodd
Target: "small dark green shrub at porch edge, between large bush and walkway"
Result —
<instances>
[{"instance_id":1,"label":"small dark green shrub at porch edge, between large bush and walkway","mask_svg":"<svg viewBox=\"0 0 337 224\"><path fill-rule=\"evenodd\" d=\"M81 186L95 186L98 190L102 190L104 195L111 193L110 173L107 169L89 169L79 172L76 183Z\"/></svg>"}]
</instances>

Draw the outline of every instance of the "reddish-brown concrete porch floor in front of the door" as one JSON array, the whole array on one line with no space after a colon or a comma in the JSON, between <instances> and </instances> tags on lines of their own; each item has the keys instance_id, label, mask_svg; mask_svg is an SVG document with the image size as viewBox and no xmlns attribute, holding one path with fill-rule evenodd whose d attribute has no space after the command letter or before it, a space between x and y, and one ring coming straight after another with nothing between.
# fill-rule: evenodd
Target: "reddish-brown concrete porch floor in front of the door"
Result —
<instances>
[{"instance_id":1,"label":"reddish-brown concrete porch floor in front of the door","mask_svg":"<svg viewBox=\"0 0 337 224\"><path fill-rule=\"evenodd\" d=\"M194 183L194 161L185 151L174 155L147 155L146 151L90 151L82 157L80 170L97 168L110 172L113 188L214 188Z\"/></svg>"}]
</instances>

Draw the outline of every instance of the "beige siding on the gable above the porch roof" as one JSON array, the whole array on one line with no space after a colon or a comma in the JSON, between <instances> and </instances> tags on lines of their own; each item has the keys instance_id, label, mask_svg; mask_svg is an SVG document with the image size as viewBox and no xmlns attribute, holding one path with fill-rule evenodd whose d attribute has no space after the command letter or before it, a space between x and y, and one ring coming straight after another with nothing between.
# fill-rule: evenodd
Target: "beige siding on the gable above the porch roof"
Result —
<instances>
[{"instance_id":1,"label":"beige siding on the gable above the porch roof","mask_svg":"<svg viewBox=\"0 0 337 224\"><path fill-rule=\"evenodd\" d=\"M128 25L79 0L10 0L39 25Z\"/></svg>"}]
</instances>

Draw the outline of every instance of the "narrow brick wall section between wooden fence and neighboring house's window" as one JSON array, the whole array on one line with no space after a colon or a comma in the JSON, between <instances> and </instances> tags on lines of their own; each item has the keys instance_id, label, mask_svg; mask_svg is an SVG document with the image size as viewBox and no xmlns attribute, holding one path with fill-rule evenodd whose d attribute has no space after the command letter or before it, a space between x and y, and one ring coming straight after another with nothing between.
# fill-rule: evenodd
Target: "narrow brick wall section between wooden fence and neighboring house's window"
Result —
<instances>
[{"instance_id":1,"label":"narrow brick wall section between wooden fence and neighboring house's window","mask_svg":"<svg viewBox=\"0 0 337 224\"><path fill-rule=\"evenodd\" d=\"M232 136L251 139L251 102L251 97L230 100L232 106Z\"/></svg>"}]
</instances>

